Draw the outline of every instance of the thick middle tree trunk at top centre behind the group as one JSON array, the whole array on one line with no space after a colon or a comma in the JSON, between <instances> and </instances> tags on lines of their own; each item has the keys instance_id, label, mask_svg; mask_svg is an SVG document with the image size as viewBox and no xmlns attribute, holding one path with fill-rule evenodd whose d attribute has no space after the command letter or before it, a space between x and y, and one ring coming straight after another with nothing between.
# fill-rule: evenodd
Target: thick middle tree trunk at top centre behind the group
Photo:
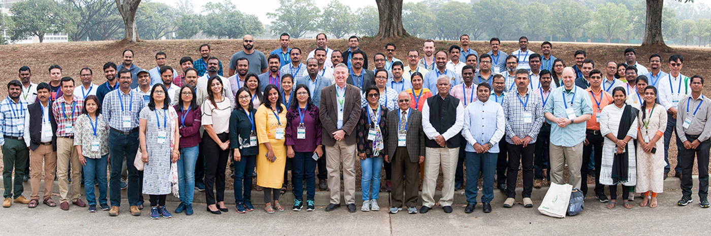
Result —
<instances>
[{"instance_id":1,"label":"thick middle tree trunk at top centre behind the group","mask_svg":"<svg viewBox=\"0 0 711 236\"><path fill-rule=\"evenodd\" d=\"M402 27L402 0L375 0L378 4L379 38L409 36Z\"/></svg>"}]
</instances>

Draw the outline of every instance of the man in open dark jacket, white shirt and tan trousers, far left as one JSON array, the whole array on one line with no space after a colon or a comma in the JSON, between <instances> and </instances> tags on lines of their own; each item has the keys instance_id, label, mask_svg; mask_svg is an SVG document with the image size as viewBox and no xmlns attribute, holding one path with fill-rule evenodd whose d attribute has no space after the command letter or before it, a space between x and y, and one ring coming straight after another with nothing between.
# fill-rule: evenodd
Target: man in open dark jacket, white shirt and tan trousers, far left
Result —
<instances>
[{"instance_id":1,"label":"man in open dark jacket, white shirt and tan trousers, far left","mask_svg":"<svg viewBox=\"0 0 711 236\"><path fill-rule=\"evenodd\" d=\"M26 132L25 142L30 148L30 204L35 208L39 203L40 180L42 177L42 164L44 163L44 196L42 202L50 207L56 206L52 200L52 187L57 166L57 122L51 112L52 103L49 102L50 87L42 82L37 85L37 100L27 107L29 116L25 117Z\"/></svg>"}]
</instances>

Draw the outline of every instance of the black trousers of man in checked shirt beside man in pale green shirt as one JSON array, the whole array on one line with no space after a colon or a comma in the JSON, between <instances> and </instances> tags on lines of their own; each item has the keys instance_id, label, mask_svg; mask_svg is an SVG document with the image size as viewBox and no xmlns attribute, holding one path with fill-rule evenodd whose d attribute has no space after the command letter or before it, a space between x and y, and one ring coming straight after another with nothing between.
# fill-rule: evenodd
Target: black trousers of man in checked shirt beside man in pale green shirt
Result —
<instances>
[{"instance_id":1,"label":"black trousers of man in checked shirt beside man in pale green shirt","mask_svg":"<svg viewBox=\"0 0 711 236\"><path fill-rule=\"evenodd\" d=\"M535 151L535 143L528 144L525 147L523 147L523 144L508 144L507 198L516 197L516 178L518 178L519 165L523 172L523 192L521 196L523 198L531 197L531 191L533 191L533 151Z\"/></svg>"}]
</instances>

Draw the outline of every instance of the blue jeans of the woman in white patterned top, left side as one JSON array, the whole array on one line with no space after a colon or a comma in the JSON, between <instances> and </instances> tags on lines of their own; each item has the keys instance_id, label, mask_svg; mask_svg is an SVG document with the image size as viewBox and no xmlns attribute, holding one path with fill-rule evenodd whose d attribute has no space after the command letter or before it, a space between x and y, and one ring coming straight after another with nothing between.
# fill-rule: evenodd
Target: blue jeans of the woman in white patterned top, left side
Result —
<instances>
[{"instance_id":1,"label":"blue jeans of the woman in white patterned top, left side","mask_svg":"<svg viewBox=\"0 0 711 236\"><path fill-rule=\"evenodd\" d=\"M109 155L101 156L100 159L86 158L87 164L84 166L84 190L87 195L87 204L96 205L96 195L94 195L94 178L99 182L99 203L106 204L106 168L109 163Z\"/></svg>"}]
</instances>

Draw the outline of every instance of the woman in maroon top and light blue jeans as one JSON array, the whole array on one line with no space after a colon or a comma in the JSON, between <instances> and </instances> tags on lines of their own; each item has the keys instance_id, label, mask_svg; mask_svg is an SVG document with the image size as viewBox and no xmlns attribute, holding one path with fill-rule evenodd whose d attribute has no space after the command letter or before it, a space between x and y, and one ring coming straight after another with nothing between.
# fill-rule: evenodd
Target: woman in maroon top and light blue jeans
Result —
<instances>
[{"instance_id":1,"label":"woman in maroon top and light blue jeans","mask_svg":"<svg viewBox=\"0 0 711 236\"><path fill-rule=\"evenodd\" d=\"M180 132L180 159L178 159L178 187L180 205L176 213L185 211L193 215L193 188L195 188L195 163L198 160L200 143L201 111L196 103L195 90L190 85L180 88L180 102L175 105L178 113L178 131Z\"/></svg>"}]
</instances>

